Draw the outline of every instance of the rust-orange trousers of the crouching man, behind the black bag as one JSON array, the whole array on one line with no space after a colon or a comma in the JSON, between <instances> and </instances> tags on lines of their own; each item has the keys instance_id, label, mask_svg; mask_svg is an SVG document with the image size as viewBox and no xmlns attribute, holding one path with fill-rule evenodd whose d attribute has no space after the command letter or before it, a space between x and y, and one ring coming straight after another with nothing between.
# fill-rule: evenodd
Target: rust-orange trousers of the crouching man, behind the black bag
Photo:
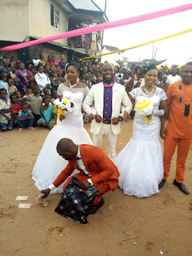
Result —
<instances>
[{"instance_id":1,"label":"rust-orange trousers of the crouching man, behind the black bag","mask_svg":"<svg viewBox=\"0 0 192 256\"><path fill-rule=\"evenodd\" d=\"M76 177L79 181L90 179L90 177L88 177L87 175L83 175L81 173L77 173L73 177ZM72 179L72 177L68 178L67 182L65 182L65 184L63 186L63 191L65 191L65 188L67 187L68 182L70 182L71 179ZM99 191L97 192L97 196L95 197L93 205L99 204L100 195L103 195L104 193L111 190L107 181L100 182L99 184L97 184L97 186L95 186L95 188L97 188Z\"/></svg>"}]
</instances>

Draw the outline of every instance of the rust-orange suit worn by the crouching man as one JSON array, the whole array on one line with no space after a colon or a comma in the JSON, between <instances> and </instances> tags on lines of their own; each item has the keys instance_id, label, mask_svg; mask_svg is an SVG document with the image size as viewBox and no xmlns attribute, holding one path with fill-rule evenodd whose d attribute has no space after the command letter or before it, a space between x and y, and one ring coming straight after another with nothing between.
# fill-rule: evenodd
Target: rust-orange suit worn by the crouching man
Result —
<instances>
[{"instance_id":1,"label":"rust-orange suit worn by the crouching man","mask_svg":"<svg viewBox=\"0 0 192 256\"><path fill-rule=\"evenodd\" d=\"M104 152L92 145L80 145L80 154L83 161L84 167L90 174L86 175L83 170L77 167L76 159L68 161L66 168L60 173L56 180L52 183L54 186L58 187L64 180L66 180L75 169L79 170L80 173L74 175L79 181L91 179L93 186L95 186L99 191L93 202L96 205L100 202L100 195L108 192L109 190L114 190L118 186L118 177L120 173L116 168L115 164L107 157ZM68 182L72 177L70 177L63 186L63 191L68 185Z\"/></svg>"}]
</instances>

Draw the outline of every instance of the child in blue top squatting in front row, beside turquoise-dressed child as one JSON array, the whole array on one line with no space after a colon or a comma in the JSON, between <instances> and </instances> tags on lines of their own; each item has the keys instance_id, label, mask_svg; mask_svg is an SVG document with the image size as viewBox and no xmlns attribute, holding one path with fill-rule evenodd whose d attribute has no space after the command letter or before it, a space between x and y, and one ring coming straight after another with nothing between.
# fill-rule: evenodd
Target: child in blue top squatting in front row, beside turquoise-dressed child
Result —
<instances>
[{"instance_id":1,"label":"child in blue top squatting in front row, beside turquoise-dressed child","mask_svg":"<svg viewBox=\"0 0 192 256\"><path fill-rule=\"evenodd\" d=\"M33 127L33 114L28 109L28 105L24 102L21 105L21 110L19 111L19 114L17 116L19 121L19 129L18 131L22 131L22 129L26 126L30 130L35 130Z\"/></svg>"}]
</instances>

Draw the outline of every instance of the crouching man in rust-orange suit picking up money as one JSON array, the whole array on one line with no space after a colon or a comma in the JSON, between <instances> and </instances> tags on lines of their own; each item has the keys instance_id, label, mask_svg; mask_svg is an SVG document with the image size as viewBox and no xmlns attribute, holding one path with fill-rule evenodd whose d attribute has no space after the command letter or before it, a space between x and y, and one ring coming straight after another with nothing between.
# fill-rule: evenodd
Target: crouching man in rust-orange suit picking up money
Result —
<instances>
[{"instance_id":1,"label":"crouching man in rust-orange suit picking up money","mask_svg":"<svg viewBox=\"0 0 192 256\"><path fill-rule=\"evenodd\" d=\"M42 190L41 193L45 194L44 197L48 196L51 190L60 186L77 169L79 173L74 177L80 181L80 189L85 190L90 186L95 186L99 190L90 211L90 214L95 213L104 204L102 195L116 189L118 186L120 174L115 164L100 148L86 144L76 145L67 138L63 138L58 142L57 152L61 157L68 160L68 164L51 186ZM67 179L63 186L63 191L65 191L71 179L72 177Z\"/></svg>"}]
</instances>

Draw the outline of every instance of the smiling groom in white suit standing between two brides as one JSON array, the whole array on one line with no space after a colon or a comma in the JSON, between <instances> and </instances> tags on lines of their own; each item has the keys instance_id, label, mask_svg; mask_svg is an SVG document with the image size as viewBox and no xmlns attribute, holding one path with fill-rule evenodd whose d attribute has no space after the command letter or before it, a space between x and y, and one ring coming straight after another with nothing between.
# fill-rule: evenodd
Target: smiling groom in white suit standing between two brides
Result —
<instances>
[{"instance_id":1,"label":"smiling groom in white suit standing between two brides","mask_svg":"<svg viewBox=\"0 0 192 256\"><path fill-rule=\"evenodd\" d=\"M120 121L127 120L132 110L132 103L122 84L113 81L114 68L110 63L102 65L103 82L92 86L83 102L84 111L90 115L93 133L93 145L101 147L102 139L106 138L109 158L115 161L116 135L120 132ZM94 108L90 108L94 101ZM124 105L124 106L122 106ZM121 113L121 107L122 115ZM124 110L123 110L124 109Z\"/></svg>"}]
</instances>

